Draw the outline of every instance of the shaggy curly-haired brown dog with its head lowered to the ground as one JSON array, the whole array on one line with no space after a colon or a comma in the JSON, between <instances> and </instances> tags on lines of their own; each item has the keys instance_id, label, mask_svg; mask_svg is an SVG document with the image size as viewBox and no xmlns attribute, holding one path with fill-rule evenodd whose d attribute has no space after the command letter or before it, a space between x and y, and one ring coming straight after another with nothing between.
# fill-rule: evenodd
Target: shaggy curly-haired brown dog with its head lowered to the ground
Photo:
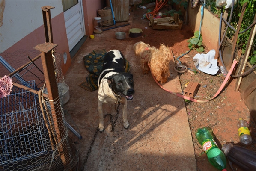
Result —
<instances>
[{"instance_id":1,"label":"shaggy curly-haired brown dog with its head lowered to the ground","mask_svg":"<svg viewBox=\"0 0 256 171\"><path fill-rule=\"evenodd\" d=\"M159 49L140 41L133 46L136 56L140 56L140 64L143 74L148 74L150 69L156 80L161 83L167 82L170 77L169 62L171 51L164 44ZM150 68L149 68L149 65Z\"/></svg>"}]
</instances>

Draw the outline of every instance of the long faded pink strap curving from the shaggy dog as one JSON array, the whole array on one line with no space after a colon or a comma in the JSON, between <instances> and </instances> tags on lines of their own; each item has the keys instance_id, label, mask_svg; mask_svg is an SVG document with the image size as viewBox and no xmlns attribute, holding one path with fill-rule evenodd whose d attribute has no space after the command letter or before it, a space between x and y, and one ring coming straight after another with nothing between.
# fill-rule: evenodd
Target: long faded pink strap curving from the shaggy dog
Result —
<instances>
[{"instance_id":1,"label":"long faded pink strap curving from the shaggy dog","mask_svg":"<svg viewBox=\"0 0 256 171\"><path fill-rule=\"evenodd\" d=\"M219 90L217 91L217 93L210 99L214 99L215 97L217 97L218 94L220 94L220 92L222 91L222 89L224 88L224 86L226 85L227 81L229 80L229 76L232 74L234 68L235 68L235 64L237 64L237 60L234 60L233 61L233 64L231 66L231 68L229 69L229 73L226 75L226 78L225 80L223 81L222 85L220 86ZM152 74L152 73L151 73ZM210 100L196 100L196 99L193 99L191 97L187 97L187 96L184 96L182 94L178 94L178 93L173 93L167 89L165 89L160 83L158 83L158 81L155 79L155 77L152 75L152 77L154 78L155 82L165 91L167 91L168 93L171 93L171 94L174 94L178 97L182 97L184 99L187 99L187 100L190 100L190 101L193 101L193 102L199 102L199 103L205 103L205 102L208 102Z\"/></svg>"}]
</instances>

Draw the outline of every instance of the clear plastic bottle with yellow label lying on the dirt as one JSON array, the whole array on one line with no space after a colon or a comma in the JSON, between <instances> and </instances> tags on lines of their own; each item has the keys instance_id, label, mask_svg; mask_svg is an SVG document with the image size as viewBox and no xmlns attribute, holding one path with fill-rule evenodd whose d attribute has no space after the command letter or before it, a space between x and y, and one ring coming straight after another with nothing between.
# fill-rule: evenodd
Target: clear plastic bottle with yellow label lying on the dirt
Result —
<instances>
[{"instance_id":1,"label":"clear plastic bottle with yellow label lying on the dirt","mask_svg":"<svg viewBox=\"0 0 256 171\"><path fill-rule=\"evenodd\" d=\"M250 145L253 142L253 139L247 121L243 120L243 118L239 118L237 127L240 143L243 145Z\"/></svg>"}]
</instances>

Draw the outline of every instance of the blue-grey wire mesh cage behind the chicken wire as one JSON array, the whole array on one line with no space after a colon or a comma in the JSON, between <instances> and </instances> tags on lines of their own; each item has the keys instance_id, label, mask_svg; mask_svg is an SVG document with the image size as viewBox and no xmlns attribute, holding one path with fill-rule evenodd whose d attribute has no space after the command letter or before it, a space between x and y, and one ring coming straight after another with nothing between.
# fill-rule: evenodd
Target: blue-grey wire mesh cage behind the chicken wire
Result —
<instances>
[{"instance_id":1,"label":"blue-grey wire mesh cage behind the chicken wire","mask_svg":"<svg viewBox=\"0 0 256 171\"><path fill-rule=\"evenodd\" d=\"M35 87L35 82L23 85ZM37 104L36 94L15 86L9 96L0 99L0 168L11 170L16 165L16 170L24 170L29 167L24 159L49 152L48 131Z\"/></svg>"}]
</instances>

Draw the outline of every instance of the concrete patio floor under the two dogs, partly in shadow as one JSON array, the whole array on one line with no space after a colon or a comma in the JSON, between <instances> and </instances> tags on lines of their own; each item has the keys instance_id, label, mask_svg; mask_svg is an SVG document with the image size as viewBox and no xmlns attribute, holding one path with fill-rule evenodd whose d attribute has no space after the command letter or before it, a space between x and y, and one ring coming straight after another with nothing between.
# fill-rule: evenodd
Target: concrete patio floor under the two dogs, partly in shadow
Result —
<instances>
[{"instance_id":1,"label":"concrete patio floor under the two dogs, partly in shadow","mask_svg":"<svg viewBox=\"0 0 256 171\"><path fill-rule=\"evenodd\" d=\"M78 139L69 133L79 156L78 171L196 171L196 158L184 100L162 90L151 74L143 75L140 59L135 56L133 45L141 38L128 38L131 28L148 27L131 12L130 25L110 29L87 39L72 59L71 68L65 74L69 85L70 100L65 105L68 122L81 134ZM126 32L126 39L116 40L114 33ZM161 42L159 42L161 43ZM122 51L131 65L134 76L134 99L128 101L128 121L130 128L122 124L122 111L115 130L111 132L109 117L105 118L105 130L97 134L85 163L87 152L98 127L98 99L96 91L87 91L78 85L86 80L83 57L93 50ZM172 59L173 60L173 59ZM170 64L173 68L174 62ZM181 92L179 77L171 73L164 87ZM105 104L104 114L111 113L113 119L115 105ZM85 163L85 164L84 164Z\"/></svg>"}]
</instances>

